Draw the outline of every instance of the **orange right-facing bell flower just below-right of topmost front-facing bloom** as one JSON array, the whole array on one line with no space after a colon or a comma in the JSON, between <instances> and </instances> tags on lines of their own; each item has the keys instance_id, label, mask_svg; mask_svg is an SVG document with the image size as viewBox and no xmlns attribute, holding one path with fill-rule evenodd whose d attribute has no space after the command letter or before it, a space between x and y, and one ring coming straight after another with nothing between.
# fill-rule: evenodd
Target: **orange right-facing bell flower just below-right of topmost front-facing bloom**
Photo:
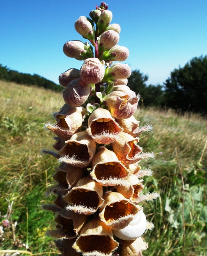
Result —
<instances>
[{"instance_id":1,"label":"orange right-facing bell flower just below-right of topmost front-facing bloom","mask_svg":"<svg viewBox=\"0 0 207 256\"><path fill-rule=\"evenodd\" d=\"M118 159L124 164L135 164L142 159L142 148L137 145L138 138L132 137L126 132L120 132L118 138L112 143Z\"/></svg>"}]
</instances>

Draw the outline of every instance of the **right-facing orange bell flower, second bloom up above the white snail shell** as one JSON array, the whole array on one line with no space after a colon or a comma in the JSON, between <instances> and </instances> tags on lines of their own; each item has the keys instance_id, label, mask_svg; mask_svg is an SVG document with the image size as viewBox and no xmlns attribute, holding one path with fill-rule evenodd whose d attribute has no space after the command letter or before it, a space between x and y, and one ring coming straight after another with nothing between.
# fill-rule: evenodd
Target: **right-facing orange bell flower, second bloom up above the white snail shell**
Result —
<instances>
[{"instance_id":1,"label":"right-facing orange bell flower, second bloom up above the white snail shell","mask_svg":"<svg viewBox=\"0 0 207 256\"><path fill-rule=\"evenodd\" d=\"M135 175L131 174L127 177L126 183L117 185L116 190L131 202L135 203L139 197L139 193L143 190L143 180L139 180Z\"/></svg>"}]
</instances>

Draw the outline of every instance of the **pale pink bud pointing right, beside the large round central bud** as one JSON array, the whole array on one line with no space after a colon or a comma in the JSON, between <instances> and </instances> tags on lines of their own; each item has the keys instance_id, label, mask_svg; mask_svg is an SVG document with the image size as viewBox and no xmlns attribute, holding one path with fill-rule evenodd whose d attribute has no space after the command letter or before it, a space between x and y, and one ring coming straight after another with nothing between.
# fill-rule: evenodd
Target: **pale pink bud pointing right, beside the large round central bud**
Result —
<instances>
[{"instance_id":1,"label":"pale pink bud pointing right, beside the large round central bud","mask_svg":"<svg viewBox=\"0 0 207 256\"><path fill-rule=\"evenodd\" d=\"M129 67L128 64L115 63L108 69L107 72L112 73L112 75L116 79L125 79L125 78L130 77L131 68Z\"/></svg>"}]
</instances>

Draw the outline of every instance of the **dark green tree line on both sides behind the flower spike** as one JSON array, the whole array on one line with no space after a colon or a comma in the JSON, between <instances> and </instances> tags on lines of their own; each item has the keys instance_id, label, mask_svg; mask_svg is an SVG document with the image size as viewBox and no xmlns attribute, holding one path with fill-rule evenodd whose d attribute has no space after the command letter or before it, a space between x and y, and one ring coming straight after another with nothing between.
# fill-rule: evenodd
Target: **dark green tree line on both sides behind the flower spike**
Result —
<instances>
[{"instance_id":1,"label":"dark green tree line on both sides behind the flower spike","mask_svg":"<svg viewBox=\"0 0 207 256\"><path fill-rule=\"evenodd\" d=\"M61 91L63 88L37 74L24 74L0 64L0 80L25 85L36 85ZM128 86L141 96L140 107L173 108L182 112L207 114L207 56L191 59L186 65L174 69L163 85L146 85L148 76L134 70Z\"/></svg>"}]
</instances>

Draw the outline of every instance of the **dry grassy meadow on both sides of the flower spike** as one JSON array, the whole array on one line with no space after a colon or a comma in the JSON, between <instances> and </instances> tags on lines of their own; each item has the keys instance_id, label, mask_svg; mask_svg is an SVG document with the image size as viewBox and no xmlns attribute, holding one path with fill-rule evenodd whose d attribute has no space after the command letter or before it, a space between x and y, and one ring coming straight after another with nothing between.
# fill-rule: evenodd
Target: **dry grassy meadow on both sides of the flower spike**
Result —
<instances>
[{"instance_id":1,"label":"dry grassy meadow on both sides of the flower spike","mask_svg":"<svg viewBox=\"0 0 207 256\"><path fill-rule=\"evenodd\" d=\"M53 214L41 210L55 198L45 192L53 184L57 161L41 150L54 144L43 124L54 123L52 113L63 105L62 96L0 81L0 103L0 226L9 220L0 232L0 255L17 249L58 255L45 236L55 226ZM155 159L142 160L140 166L154 172L144 177L145 192L160 194L156 201L142 203L155 225L143 236L149 242L144 255L207 255L207 120L156 109L138 109L135 116L140 126L153 126L140 136L139 145L154 151Z\"/></svg>"}]
</instances>

